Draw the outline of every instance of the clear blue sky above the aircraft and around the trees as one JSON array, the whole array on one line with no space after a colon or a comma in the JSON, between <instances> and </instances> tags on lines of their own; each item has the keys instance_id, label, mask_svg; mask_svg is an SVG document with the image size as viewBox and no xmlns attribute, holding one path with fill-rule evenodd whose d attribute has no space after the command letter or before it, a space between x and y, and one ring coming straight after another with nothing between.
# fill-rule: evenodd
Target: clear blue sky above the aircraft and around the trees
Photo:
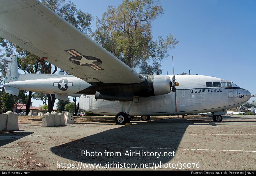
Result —
<instances>
[{"instance_id":1,"label":"clear blue sky above the aircraft and around the trees","mask_svg":"<svg viewBox=\"0 0 256 176\"><path fill-rule=\"evenodd\" d=\"M120 0L72 0L83 12L95 17ZM179 43L169 51L162 64L163 75L215 76L230 80L256 94L256 1L236 0L163 0L164 14L153 22L153 36L172 34ZM256 99L252 97L251 100ZM251 100L249 102L251 102ZM56 100L57 102L57 100ZM36 104L33 104L36 106Z\"/></svg>"}]
</instances>

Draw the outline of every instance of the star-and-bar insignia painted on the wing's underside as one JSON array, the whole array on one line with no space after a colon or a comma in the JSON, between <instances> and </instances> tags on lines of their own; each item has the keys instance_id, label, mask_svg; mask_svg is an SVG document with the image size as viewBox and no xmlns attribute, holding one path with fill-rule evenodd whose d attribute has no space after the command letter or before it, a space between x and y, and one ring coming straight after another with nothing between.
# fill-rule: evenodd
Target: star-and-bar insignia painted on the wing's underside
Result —
<instances>
[{"instance_id":1,"label":"star-and-bar insignia painted on the wing's underside","mask_svg":"<svg viewBox=\"0 0 256 176\"><path fill-rule=\"evenodd\" d=\"M65 50L72 57L69 58L69 61L86 67L91 67L94 70L103 70L99 65L102 64L102 61L98 58L92 56L83 56L81 53L77 52L74 49Z\"/></svg>"}]
</instances>

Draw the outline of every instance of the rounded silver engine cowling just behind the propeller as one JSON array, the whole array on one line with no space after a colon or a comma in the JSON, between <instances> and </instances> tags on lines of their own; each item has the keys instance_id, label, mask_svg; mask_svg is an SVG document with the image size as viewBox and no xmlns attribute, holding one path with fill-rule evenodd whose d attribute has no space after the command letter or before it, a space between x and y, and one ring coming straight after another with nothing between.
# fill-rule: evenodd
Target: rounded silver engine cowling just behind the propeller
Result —
<instances>
[{"instance_id":1,"label":"rounded silver engine cowling just behind the propeller","mask_svg":"<svg viewBox=\"0 0 256 176\"><path fill-rule=\"evenodd\" d=\"M171 92L171 80L169 76L165 75L148 75L147 78L148 83L152 86L154 89L155 96L157 95L164 95Z\"/></svg>"}]
</instances>

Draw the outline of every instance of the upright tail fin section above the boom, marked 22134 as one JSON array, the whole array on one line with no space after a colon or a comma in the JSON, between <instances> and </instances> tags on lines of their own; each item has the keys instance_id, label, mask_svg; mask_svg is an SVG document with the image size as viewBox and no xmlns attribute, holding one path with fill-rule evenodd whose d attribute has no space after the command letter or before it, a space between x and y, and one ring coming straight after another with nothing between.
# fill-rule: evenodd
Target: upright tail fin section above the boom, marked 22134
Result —
<instances>
[{"instance_id":1,"label":"upright tail fin section above the boom, marked 22134","mask_svg":"<svg viewBox=\"0 0 256 176\"><path fill-rule=\"evenodd\" d=\"M13 54L8 61L5 83L17 81L19 78L17 57Z\"/></svg>"}]
</instances>

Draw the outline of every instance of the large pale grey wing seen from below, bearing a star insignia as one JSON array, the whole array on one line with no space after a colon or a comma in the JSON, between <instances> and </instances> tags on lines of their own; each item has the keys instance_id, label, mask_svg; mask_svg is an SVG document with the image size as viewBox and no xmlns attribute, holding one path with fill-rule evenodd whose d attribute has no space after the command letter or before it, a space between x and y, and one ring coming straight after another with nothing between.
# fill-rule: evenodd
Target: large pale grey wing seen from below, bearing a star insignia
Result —
<instances>
[{"instance_id":1,"label":"large pale grey wing seen from below, bearing a star insignia","mask_svg":"<svg viewBox=\"0 0 256 176\"><path fill-rule=\"evenodd\" d=\"M145 78L37 0L0 0L0 36L87 82Z\"/></svg>"}]
</instances>

